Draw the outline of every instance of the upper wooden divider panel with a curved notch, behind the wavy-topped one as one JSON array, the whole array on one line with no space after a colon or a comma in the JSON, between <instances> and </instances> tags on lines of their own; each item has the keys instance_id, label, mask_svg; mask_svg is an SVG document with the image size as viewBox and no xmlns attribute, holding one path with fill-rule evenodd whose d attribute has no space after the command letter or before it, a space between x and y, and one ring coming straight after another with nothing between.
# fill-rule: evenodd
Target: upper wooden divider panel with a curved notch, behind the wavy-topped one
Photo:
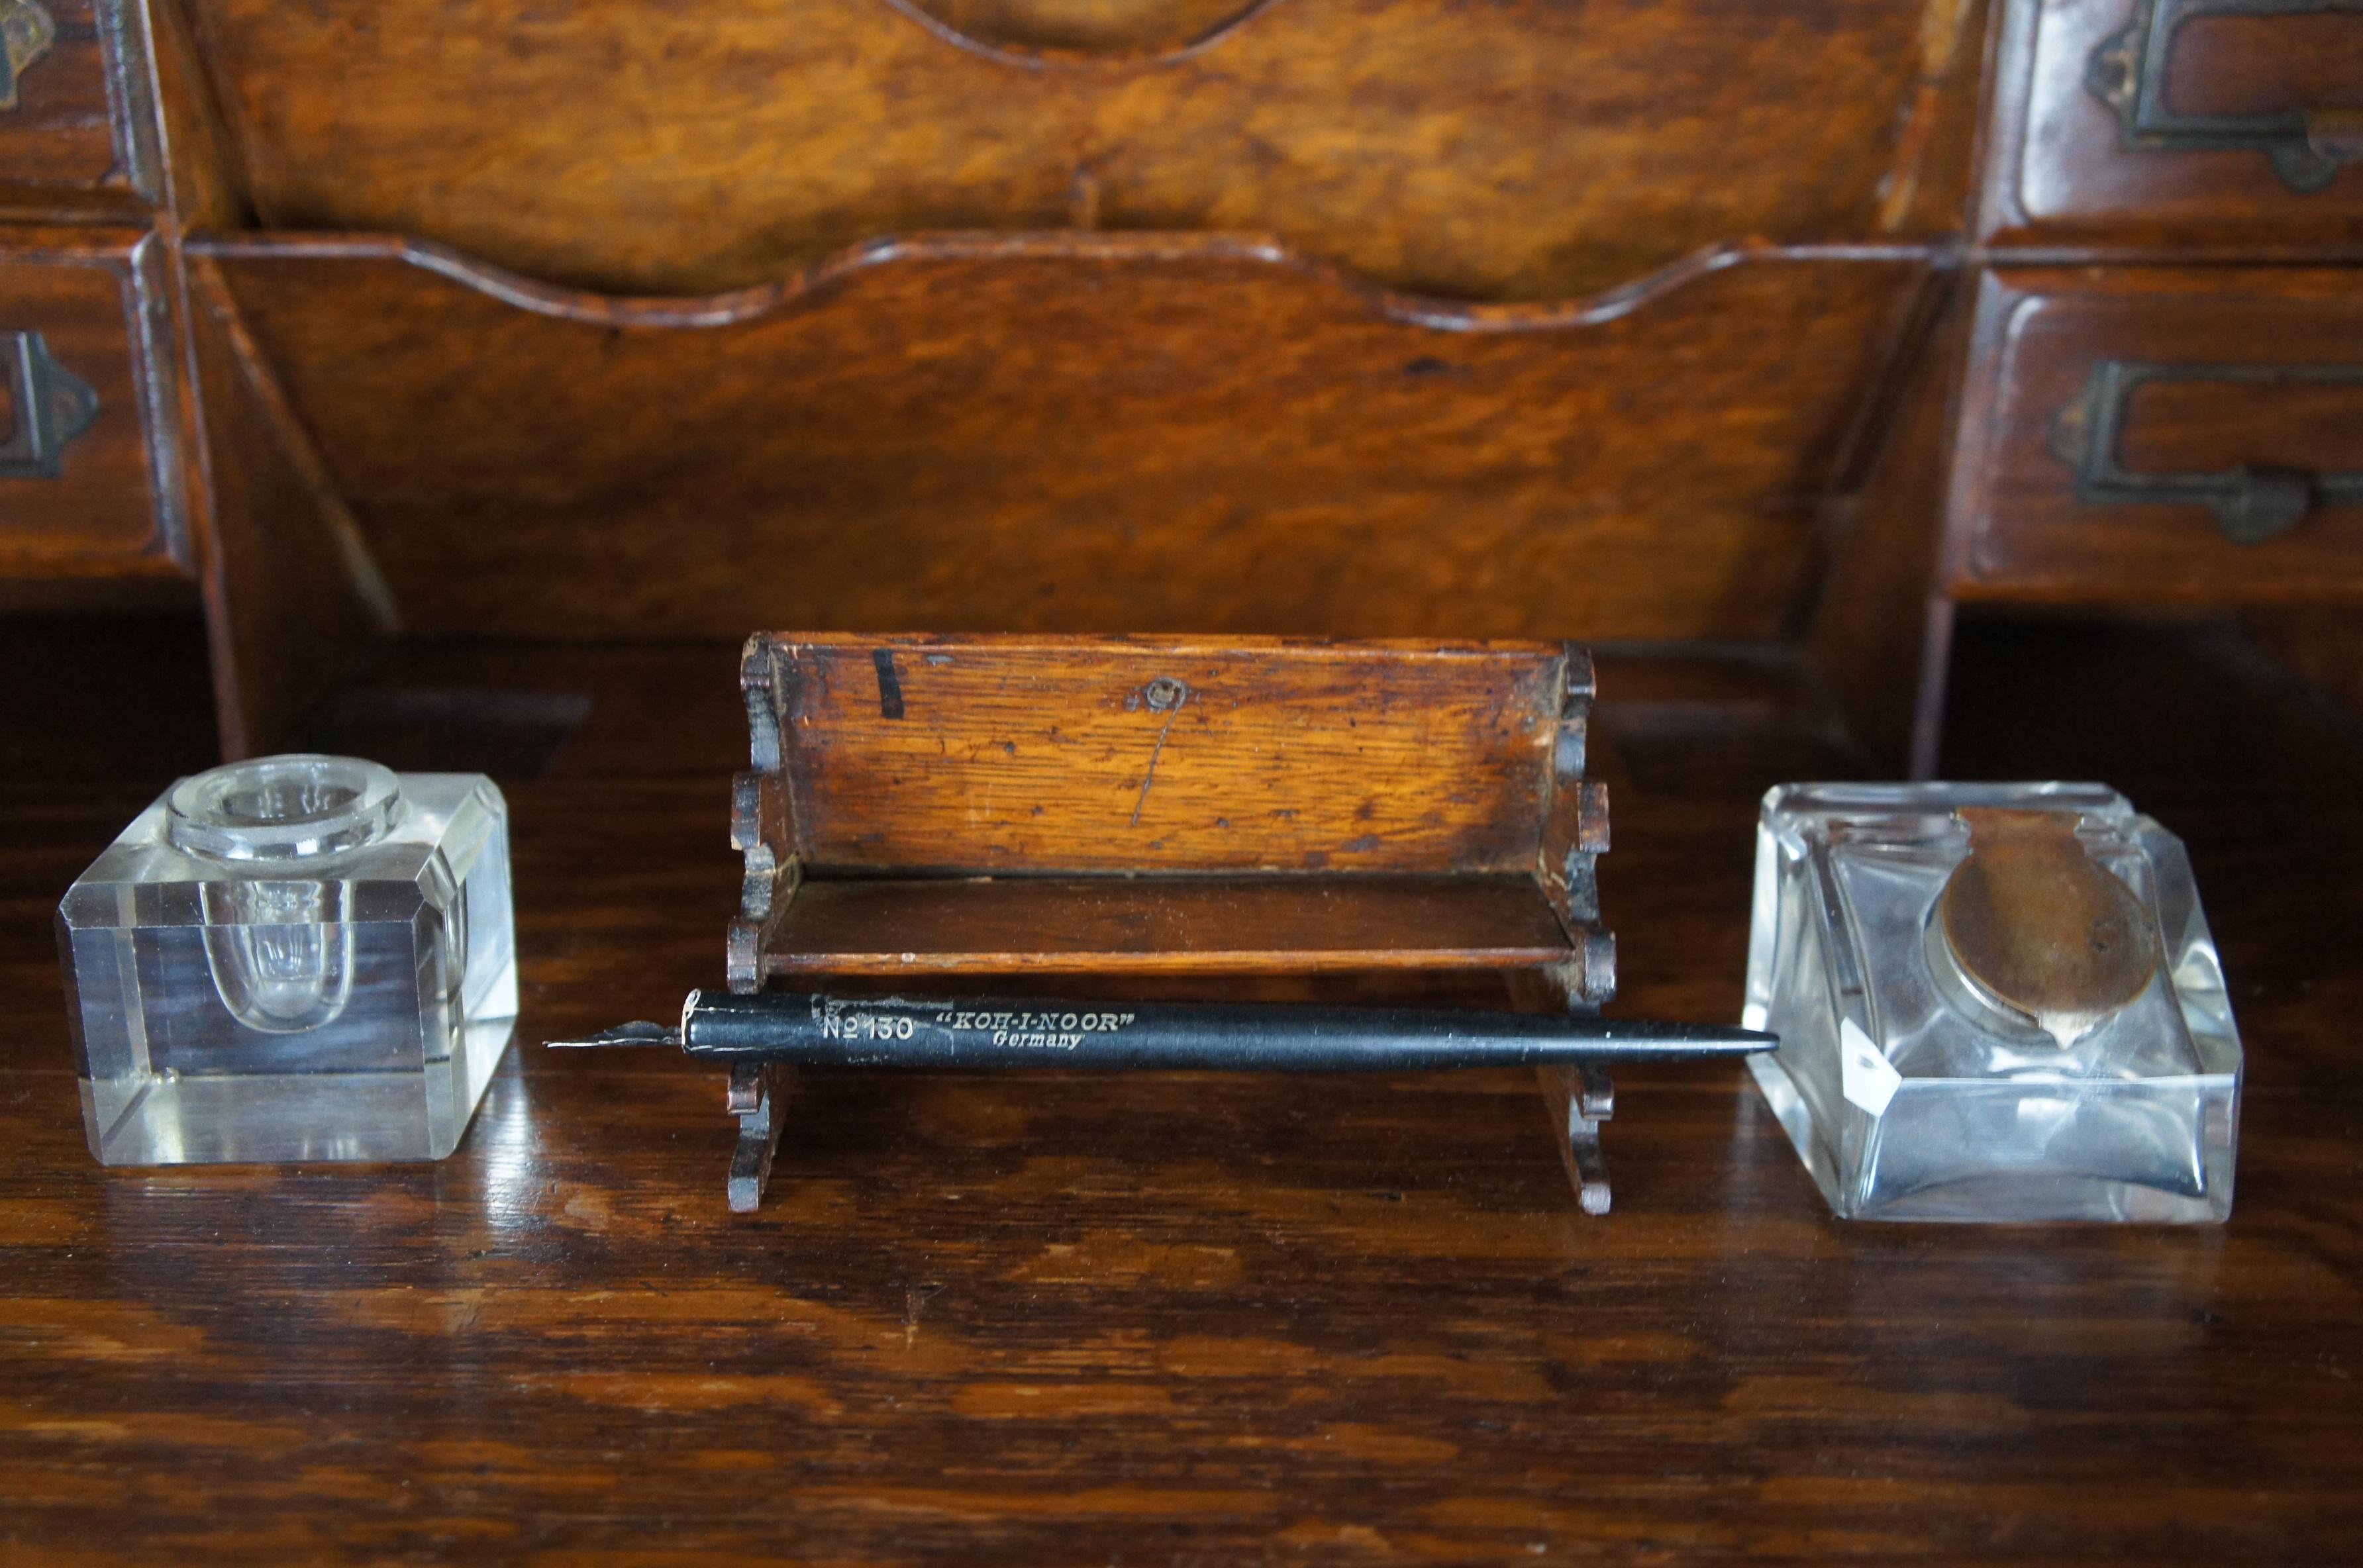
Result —
<instances>
[{"instance_id":1,"label":"upper wooden divider panel with a curved notch, behind the wavy-topped one","mask_svg":"<svg viewBox=\"0 0 2363 1568\"><path fill-rule=\"evenodd\" d=\"M1538 300L1742 236L1881 234L1881 187L1942 118L1926 83L1971 85L1926 2L1271 0L1132 59L886 0L196 12L267 227L621 293L922 229L1255 229L1399 288Z\"/></svg>"}]
</instances>

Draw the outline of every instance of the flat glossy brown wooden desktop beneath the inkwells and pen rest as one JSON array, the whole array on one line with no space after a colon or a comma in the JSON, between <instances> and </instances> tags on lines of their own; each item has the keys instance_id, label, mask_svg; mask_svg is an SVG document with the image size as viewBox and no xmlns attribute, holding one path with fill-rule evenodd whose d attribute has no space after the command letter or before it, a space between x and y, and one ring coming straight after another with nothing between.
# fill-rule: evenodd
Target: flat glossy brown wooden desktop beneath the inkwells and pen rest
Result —
<instances>
[{"instance_id":1,"label":"flat glossy brown wooden desktop beneath the inkwells and pen rest","mask_svg":"<svg viewBox=\"0 0 2363 1568\"><path fill-rule=\"evenodd\" d=\"M1730 1065L1621 1074L1604 1221L1524 1074L808 1079L733 1216L716 1074L529 1044L721 973L721 647L418 654L324 720L510 791L527 1044L451 1159L99 1169L50 912L210 760L203 678L0 654L9 1563L2363 1556L2363 732L2214 633L1973 631L1949 756L2193 848L2250 1077L2181 1230L1841 1226ZM1756 796L1850 770L1791 697L1602 664L1619 1011L1737 1013Z\"/></svg>"}]
</instances>

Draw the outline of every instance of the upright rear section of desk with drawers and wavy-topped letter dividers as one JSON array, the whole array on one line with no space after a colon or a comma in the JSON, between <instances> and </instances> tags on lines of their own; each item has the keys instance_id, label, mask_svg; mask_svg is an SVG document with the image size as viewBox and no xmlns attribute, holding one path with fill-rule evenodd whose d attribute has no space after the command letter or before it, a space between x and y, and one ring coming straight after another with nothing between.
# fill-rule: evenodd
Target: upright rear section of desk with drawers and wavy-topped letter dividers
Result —
<instances>
[{"instance_id":1,"label":"upright rear section of desk with drawers and wavy-topped letter dividers","mask_svg":"<svg viewBox=\"0 0 2363 1568\"><path fill-rule=\"evenodd\" d=\"M0 602L1711 642L2363 690L2351 0L0 0Z\"/></svg>"}]
</instances>

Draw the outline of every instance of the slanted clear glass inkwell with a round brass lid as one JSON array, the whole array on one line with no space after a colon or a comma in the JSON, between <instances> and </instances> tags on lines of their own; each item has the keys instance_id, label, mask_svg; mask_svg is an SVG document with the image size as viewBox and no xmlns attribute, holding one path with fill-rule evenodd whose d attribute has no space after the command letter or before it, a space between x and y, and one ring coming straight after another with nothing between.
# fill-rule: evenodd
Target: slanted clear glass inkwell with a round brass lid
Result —
<instances>
[{"instance_id":1,"label":"slanted clear glass inkwell with a round brass lid","mask_svg":"<svg viewBox=\"0 0 2363 1568\"><path fill-rule=\"evenodd\" d=\"M2240 1034L2174 834L2101 784L1784 784L1749 1067L1846 1219L2221 1221Z\"/></svg>"}]
</instances>

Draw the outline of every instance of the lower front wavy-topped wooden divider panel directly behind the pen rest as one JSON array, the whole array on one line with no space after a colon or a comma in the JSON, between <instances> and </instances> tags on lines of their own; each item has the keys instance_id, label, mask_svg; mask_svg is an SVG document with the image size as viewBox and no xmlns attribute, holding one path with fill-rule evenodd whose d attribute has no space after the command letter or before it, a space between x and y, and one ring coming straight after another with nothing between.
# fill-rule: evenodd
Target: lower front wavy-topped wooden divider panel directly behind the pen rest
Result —
<instances>
[{"instance_id":1,"label":"lower front wavy-topped wooden divider panel directly behind the pen rest","mask_svg":"<svg viewBox=\"0 0 2363 1568\"><path fill-rule=\"evenodd\" d=\"M638 305L215 239L409 626L1415 638L1782 631L1905 250L1567 307L1267 241L931 239Z\"/></svg>"}]
</instances>

